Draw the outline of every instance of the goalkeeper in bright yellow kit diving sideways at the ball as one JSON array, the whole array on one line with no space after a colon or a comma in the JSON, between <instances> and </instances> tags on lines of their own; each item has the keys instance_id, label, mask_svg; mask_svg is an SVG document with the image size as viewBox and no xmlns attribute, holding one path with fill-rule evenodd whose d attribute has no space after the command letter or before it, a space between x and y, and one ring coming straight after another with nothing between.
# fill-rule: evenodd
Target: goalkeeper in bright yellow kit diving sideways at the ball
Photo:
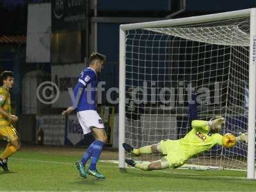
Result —
<instances>
[{"instance_id":1,"label":"goalkeeper in bright yellow kit diving sideways at the ball","mask_svg":"<svg viewBox=\"0 0 256 192\"><path fill-rule=\"evenodd\" d=\"M131 145L123 143L124 149L135 156L159 153L166 155L161 160L150 163L136 163L133 159L125 159L125 163L144 171L179 168L191 157L209 150L216 144L230 148L234 147L236 142L248 141L247 133L239 132L237 137L231 133L223 136L219 134L225 126L225 118L221 116L215 116L209 121L193 120L191 125L193 129L180 140L162 140L155 145L141 148L132 148Z\"/></svg>"}]
</instances>

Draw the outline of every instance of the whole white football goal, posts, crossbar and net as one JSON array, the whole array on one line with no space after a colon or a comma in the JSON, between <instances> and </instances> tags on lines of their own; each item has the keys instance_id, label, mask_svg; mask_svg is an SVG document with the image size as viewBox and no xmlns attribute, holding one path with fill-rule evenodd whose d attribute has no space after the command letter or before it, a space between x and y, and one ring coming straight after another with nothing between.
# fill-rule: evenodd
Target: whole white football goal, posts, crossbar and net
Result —
<instances>
[{"instance_id":1,"label":"whole white football goal, posts, crossbar and net","mask_svg":"<svg viewBox=\"0 0 256 192\"><path fill-rule=\"evenodd\" d=\"M213 148L191 163L245 169L247 161L247 177L254 179L255 54L255 8L121 25L119 167L125 168L124 142L141 147L184 136L194 93L204 100L194 105L198 118L224 115L224 132L248 131L249 140L233 150Z\"/></svg>"}]
</instances>

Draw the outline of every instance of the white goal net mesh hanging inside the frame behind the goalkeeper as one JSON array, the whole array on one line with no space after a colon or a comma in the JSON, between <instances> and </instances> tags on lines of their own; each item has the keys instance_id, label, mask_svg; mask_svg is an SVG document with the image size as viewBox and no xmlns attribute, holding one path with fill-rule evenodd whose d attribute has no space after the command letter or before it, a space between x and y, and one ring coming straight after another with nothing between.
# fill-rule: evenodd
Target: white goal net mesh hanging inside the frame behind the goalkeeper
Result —
<instances>
[{"instance_id":1,"label":"white goal net mesh hanging inside the frame behind the goalkeeper","mask_svg":"<svg viewBox=\"0 0 256 192\"><path fill-rule=\"evenodd\" d=\"M177 140L213 115L226 118L221 134L246 132L249 31L249 17L126 31L125 142ZM189 163L245 168L246 148L216 146Z\"/></svg>"}]
</instances>

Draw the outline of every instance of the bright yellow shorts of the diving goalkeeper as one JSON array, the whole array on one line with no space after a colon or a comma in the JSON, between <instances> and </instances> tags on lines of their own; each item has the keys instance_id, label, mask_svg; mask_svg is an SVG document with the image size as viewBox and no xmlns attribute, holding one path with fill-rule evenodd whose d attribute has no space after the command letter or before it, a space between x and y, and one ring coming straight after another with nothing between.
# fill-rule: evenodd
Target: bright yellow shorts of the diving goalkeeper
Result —
<instances>
[{"instance_id":1,"label":"bright yellow shorts of the diving goalkeeper","mask_svg":"<svg viewBox=\"0 0 256 192\"><path fill-rule=\"evenodd\" d=\"M166 154L164 158L168 161L170 168L179 168L185 163L186 157L179 140L162 140L160 147L163 154Z\"/></svg>"}]
</instances>

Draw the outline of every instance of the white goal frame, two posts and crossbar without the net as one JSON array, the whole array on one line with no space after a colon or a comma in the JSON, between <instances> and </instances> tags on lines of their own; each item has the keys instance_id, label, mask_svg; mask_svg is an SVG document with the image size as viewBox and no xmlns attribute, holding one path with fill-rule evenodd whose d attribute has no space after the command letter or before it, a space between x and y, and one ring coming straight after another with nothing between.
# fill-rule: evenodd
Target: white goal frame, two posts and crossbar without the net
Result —
<instances>
[{"instance_id":1,"label":"white goal frame, two posts and crossbar without the net","mask_svg":"<svg viewBox=\"0 0 256 192\"><path fill-rule=\"evenodd\" d=\"M247 178L255 179L255 108L256 108L256 8L234 12L216 13L182 19L168 19L154 22L142 22L120 25L119 47L119 168L125 168L125 31L131 29L159 28L181 24L196 24L232 17L250 16L250 63L249 63L249 101L248 101L248 154Z\"/></svg>"}]
</instances>

